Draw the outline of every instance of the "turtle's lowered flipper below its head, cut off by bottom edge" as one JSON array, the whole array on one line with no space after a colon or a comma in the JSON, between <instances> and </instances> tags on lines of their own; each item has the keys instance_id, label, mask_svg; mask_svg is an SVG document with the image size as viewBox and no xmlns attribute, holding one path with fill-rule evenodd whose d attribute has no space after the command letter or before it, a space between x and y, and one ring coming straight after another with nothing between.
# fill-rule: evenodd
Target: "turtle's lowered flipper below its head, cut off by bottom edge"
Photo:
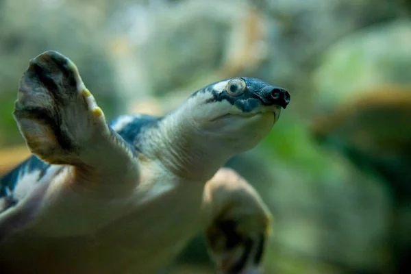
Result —
<instances>
[{"instance_id":1,"label":"turtle's lowered flipper below its head, cut off by bottom edge","mask_svg":"<svg viewBox=\"0 0 411 274\"><path fill-rule=\"evenodd\" d=\"M203 196L206 238L212 260L223 274L261 273L271 213L245 179L222 168Z\"/></svg>"}]
</instances>

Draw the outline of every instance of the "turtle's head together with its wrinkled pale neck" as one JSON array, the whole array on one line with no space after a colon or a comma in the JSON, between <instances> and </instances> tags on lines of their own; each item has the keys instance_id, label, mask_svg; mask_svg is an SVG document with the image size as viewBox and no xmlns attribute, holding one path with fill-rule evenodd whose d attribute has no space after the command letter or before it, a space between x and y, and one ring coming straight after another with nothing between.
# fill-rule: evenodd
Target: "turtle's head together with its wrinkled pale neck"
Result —
<instances>
[{"instance_id":1,"label":"turtle's head together with its wrinkled pale neck","mask_svg":"<svg viewBox=\"0 0 411 274\"><path fill-rule=\"evenodd\" d=\"M210 84L151 130L149 154L173 173L203 182L232 156L256 147L289 102L288 91L260 79Z\"/></svg>"}]
</instances>

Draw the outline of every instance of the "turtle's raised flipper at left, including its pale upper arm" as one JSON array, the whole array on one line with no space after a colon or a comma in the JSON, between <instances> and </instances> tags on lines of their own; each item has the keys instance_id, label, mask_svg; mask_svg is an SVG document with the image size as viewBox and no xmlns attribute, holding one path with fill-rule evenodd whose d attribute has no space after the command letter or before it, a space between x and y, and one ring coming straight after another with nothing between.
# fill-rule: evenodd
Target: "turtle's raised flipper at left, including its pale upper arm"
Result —
<instances>
[{"instance_id":1,"label":"turtle's raised flipper at left, including its pale upper arm","mask_svg":"<svg viewBox=\"0 0 411 274\"><path fill-rule=\"evenodd\" d=\"M126 171L136 177L136 152L108 126L75 64L56 51L30 60L14 119L27 147L45 162L99 171L102 177L129 174Z\"/></svg>"}]
</instances>

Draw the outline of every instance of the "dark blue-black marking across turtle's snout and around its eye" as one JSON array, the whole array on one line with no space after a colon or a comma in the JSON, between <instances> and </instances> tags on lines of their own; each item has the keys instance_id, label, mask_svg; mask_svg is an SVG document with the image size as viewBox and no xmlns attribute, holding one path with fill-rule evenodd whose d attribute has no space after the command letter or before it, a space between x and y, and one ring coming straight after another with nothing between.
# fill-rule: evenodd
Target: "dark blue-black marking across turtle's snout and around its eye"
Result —
<instances>
[{"instance_id":1,"label":"dark blue-black marking across turtle's snout and around its eye","mask_svg":"<svg viewBox=\"0 0 411 274\"><path fill-rule=\"evenodd\" d=\"M243 112L251 112L251 110L259 105L279 105L282 108L286 108L288 103L290 103L290 94L284 88L271 86L257 78L242 77L241 79L245 81L246 88L245 92L240 96L229 95L226 90L222 92L213 90L213 86L219 83L215 82L198 90L192 97L199 92L209 92L212 94L212 99L209 99L207 103L225 100L232 105L236 105ZM227 80L229 79L223 81Z\"/></svg>"}]
</instances>

